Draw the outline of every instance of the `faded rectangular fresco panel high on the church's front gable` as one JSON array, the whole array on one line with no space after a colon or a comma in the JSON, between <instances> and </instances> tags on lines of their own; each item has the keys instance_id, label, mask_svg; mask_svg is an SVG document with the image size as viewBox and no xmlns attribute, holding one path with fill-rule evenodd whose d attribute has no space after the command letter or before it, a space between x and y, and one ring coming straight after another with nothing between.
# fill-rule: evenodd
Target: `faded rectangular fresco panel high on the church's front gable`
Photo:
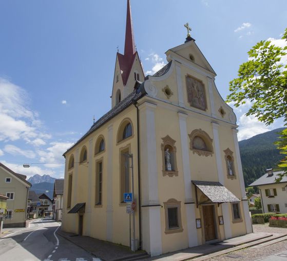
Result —
<instances>
[{"instance_id":1,"label":"faded rectangular fresco panel high on the church's front gable","mask_svg":"<svg viewBox=\"0 0 287 261\"><path fill-rule=\"evenodd\" d=\"M205 88L202 81L191 76L186 77L187 100L190 106L206 110Z\"/></svg>"}]
</instances>

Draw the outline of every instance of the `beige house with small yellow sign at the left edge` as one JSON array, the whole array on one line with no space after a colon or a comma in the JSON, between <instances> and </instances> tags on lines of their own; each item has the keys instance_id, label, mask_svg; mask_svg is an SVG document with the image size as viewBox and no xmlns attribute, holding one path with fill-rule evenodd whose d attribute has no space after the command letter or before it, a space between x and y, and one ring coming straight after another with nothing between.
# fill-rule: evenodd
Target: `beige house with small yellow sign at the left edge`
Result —
<instances>
[{"instance_id":1,"label":"beige house with small yellow sign at the left edge","mask_svg":"<svg viewBox=\"0 0 287 261\"><path fill-rule=\"evenodd\" d=\"M30 187L25 175L15 173L0 163L0 194L8 197L4 228L25 227Z\"/></svg>"}]
</instances>

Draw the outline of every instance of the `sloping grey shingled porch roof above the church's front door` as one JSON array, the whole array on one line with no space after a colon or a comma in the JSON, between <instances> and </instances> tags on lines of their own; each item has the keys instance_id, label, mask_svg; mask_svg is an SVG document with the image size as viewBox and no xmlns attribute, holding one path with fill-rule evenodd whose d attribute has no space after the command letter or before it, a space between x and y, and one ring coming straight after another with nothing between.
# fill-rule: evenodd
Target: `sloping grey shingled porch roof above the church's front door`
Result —
<instances>
[{"instance_id":1,"label":"sloping grey shingled porch roof above the church's front door","mask_svg":"<svg viewBox=\"0 0 287 261\"><path fill-rule=\"evenodd\" d=\"M192 180L192 183L213 203L240 201L235 194L229 191L220 182Z\"/></svg>"}]
</instances>

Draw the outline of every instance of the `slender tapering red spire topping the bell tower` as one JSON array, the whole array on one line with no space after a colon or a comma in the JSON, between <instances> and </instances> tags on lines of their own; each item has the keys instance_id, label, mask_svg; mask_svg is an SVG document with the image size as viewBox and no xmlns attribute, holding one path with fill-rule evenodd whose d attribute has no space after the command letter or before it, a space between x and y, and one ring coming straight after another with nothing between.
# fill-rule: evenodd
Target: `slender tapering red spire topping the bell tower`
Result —
<instances>
[{"instance_id":1,"label":"slender tapering red spire topping the bell tower","mask_svg":"<svg viewBox=\"0 0 287 261\"><path fill-rule=\"evenodd\" d=\"M127 57L131 57L136 53L135 38L133 37L132 19L129 0L127 0L127 18L126 18L126 38L125 38L125 53Z\"/></svg>"}]
</instances>

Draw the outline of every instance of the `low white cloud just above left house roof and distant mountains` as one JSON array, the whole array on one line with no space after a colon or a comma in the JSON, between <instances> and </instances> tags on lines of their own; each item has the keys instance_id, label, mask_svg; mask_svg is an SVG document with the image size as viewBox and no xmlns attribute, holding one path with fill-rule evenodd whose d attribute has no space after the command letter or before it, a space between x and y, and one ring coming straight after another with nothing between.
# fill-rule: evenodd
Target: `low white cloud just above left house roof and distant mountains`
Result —
<instances>
[{"instance_id":1,"label":"low white cloud just above left house roof and distant mountains","mask_svg":"<svg viewBox=\"0 0 287 261\"><path fill-rule=\"evenodd\" d=\"M52 169L45 169L45 168L41 168L39 166L33 166L33 165L30 165L29 168L24 168L22 164L12 164L6 161L2 161L1 163L3 163L5 166L7 166L8 168L10 168L12 171L16 173L26 175L27 176L26 180L28 180L31 176L35 174L39 174L41 176L45 174L45 175L50 175L52 177L55 177L55 171L53 171ZM55 177L55 178L60 178L60 177Z\"/></svg>"}]
</instances>

